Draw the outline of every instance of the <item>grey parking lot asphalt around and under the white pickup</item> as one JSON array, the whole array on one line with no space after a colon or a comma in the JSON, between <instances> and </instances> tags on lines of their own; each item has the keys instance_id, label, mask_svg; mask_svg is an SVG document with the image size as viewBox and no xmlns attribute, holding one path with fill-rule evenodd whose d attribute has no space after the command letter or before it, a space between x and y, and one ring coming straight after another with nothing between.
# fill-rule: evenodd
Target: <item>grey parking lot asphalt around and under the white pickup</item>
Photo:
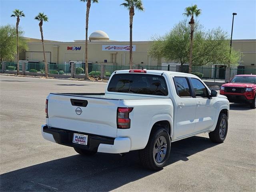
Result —
<instances>
[{"instance_id":1,"label":"grey parking lot asphalt around and under the white pickup","mask_svg":"<svg viewBox=\"0 0 256 192\"><path fill-rule=\"evenodd\" d=\"M104 92L104 82L0 76L0 191L256 191L256 110L230 104L228 135L172 143L164 169L141 167L138 152L91 157L44 140L49 92ZM100 117L99 117L100 118Z\"/></svg>"}]
</instances>

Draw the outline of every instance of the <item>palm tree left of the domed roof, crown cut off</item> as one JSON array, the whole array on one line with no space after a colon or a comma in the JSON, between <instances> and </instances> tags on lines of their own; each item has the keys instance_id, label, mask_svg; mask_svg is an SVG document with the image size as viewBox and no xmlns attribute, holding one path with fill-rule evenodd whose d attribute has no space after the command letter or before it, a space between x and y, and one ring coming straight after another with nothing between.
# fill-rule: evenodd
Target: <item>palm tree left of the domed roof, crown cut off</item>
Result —
<instances>
[{"instance_id":1,"label":"palm tree left of the domed roof, crown cut off","mask_svg":"<svg viewBox=\"0 0 256 192\"><path fill-rule=\"evenodd\" d=\"M98 0L80 0L82 2L87 2L86 3L86 21L85 21L85 78L88 79L88 22L89 22L89 12L90 12L90 7L91 7L91 2L92 3L98 3Z\"/></svg>"}]
</instances>

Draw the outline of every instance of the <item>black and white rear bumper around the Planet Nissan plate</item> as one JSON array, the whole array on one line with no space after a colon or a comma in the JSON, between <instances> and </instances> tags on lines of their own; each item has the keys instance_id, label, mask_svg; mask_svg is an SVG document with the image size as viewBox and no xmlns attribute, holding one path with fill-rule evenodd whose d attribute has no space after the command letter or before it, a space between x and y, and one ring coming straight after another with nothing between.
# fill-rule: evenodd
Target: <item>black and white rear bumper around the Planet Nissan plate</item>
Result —
<instances>
[{"instance_id":1,"label":"black and white rear bumper around the Planet Nissan plate","mask_svg":"<svg viewBox=\"0 0 256 192\"><path fill-rule=\"evenodd\" d=\"M65 146L82 148L90 151L102 153L125 153L130 151L130 138L110 138L88 133L75 132L58 128L48 128L47 125L41 126L44 139ZM80 133L88 135L88 144L86 146L72 142L73 134Z\"/></svg>"}]
</instances>

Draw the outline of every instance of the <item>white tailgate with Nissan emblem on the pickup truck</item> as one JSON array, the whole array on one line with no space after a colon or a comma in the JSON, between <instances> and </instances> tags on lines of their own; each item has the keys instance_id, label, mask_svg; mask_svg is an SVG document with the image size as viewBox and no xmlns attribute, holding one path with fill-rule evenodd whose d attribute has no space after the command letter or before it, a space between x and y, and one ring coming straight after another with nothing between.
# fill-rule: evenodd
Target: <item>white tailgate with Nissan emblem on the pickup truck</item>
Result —
<instances>
[{"instance_id":1,"label":"white tailgate with Nissan emblem on the pickup truck","mask_svg":"<svg viewBox=\"0 0 256 192\"><path fill-rule=\"evenodd\" d=\"M50 94L48 126L116 138L119 102L114 99Z\"/></svg>"}]
</instances>

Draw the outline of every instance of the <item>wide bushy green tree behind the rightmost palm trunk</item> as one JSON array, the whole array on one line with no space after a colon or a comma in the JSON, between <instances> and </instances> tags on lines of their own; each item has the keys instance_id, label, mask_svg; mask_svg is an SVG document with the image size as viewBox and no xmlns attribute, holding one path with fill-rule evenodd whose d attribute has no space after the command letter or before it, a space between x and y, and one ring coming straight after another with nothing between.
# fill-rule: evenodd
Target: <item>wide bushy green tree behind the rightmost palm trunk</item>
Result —
<instances>
[{"instance_id":1,"label":"wide bushy green tree behind the rightmost palm trunk","mask_svg":"<svg viewBox=\"0 0 256 192\"><path fill-rule=\"evenodd\" d=\"M203 26L194 26L193 66L206 64L229 63L228 35L220 28L204 32ZM164 58L167 61L180 62L181 65L190 61L190 26L186 20L176 24L164 36L153 38L148 50L154 59ZM232 50L231 64L238 64L240 53Z\"/></svg>"}]
</instances>

